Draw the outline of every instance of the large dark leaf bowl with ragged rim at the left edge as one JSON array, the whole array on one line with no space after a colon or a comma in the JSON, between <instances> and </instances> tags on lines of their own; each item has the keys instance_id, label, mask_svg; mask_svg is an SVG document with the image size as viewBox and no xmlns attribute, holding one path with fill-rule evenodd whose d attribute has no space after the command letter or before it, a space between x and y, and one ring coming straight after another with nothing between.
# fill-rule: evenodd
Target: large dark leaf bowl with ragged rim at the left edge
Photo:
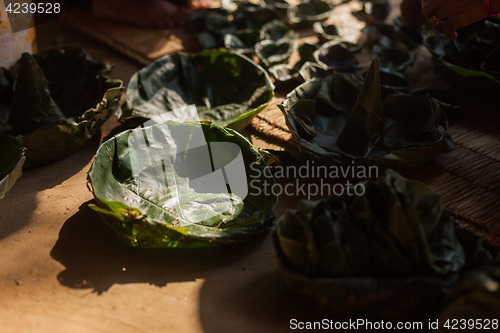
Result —
<instances>
[{"instance_id":1,"label":"large dark leaf bowl with ragged rim at the left edge","mask_svg":"<svg viewBox=\"0 0 500 333\"><path fill-rule=\"evenodd\" d=\"M0 74L0 132L22 134L26 167L63 158L118 108L120 80L81 49L27 53ZM7 123L5 123L5 119Z\"/></svg>"}]
</instances>

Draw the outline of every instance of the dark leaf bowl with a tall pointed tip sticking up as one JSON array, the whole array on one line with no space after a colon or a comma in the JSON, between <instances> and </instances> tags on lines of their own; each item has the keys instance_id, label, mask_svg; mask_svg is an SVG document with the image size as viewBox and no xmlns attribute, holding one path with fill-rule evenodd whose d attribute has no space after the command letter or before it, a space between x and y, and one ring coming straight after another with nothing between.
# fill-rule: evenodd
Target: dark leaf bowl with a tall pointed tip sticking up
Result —
<instances>
[{"instance_id":1,"label":"dark leaf bowl with a tall pointed tip sticking up","mask_svg":"<svg viewBox=\"0 0 500 333\"><path fill-rule=\"evenodd\" d=\"M431 97L400 94L381 106L376 60L361 88L362 83L353 74L334 72L298 86L278 105L304 158L408 168L453 148L447 119ZM302 100L314 103L305 109ZM414 119L432 126L413 132Z\"/></svg>"}]
</instances>

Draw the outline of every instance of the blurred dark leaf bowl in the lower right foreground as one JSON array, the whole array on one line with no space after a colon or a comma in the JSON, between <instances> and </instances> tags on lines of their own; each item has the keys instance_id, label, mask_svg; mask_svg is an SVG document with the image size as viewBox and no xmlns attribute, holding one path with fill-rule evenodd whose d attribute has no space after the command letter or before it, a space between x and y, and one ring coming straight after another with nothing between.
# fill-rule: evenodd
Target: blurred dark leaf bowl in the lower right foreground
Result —
<instances>
[{"instance_id":1,"label":"blurred dark leaf bowl in the lower right foreground","mask_svg":"<svg viewBox=\"0 0 500 333\"><path fill-rule=\"evenodd\" d=\"M285 282L339 316L432 317L439 302L430 300L444 297L488 253L424 184L388 170L356 186L362 194L301 201L278 221Z\"/></svg>"}]
</instances>

